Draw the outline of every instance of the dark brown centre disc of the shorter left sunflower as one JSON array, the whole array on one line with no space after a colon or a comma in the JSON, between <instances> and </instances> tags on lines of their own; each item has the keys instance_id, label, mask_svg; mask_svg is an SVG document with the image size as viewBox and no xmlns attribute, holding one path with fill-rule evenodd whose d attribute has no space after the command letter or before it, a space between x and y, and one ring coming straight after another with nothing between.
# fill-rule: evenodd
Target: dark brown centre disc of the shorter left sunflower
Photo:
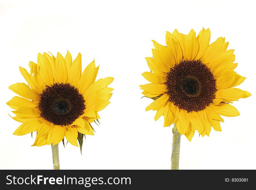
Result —
<instances>
[{"instance_id":1,"label":"dark brown centre disc of the shorter left sunflower","mask_svg":"<svg viewBox=\"0 0 256 190\"><path fill-rule=\"evenodd\" d=\"M85 100L69 83L46 86L40 94L40 115L55 125L70 125L85 110Z\"/></svg>"}]
</instances>

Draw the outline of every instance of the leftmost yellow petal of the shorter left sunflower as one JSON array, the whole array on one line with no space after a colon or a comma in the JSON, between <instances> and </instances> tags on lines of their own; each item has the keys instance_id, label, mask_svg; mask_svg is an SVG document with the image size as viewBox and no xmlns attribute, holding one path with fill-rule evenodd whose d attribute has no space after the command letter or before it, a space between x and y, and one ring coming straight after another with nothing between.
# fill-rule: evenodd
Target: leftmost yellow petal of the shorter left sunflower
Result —
<instances>
[{"instance_id":1,"label":"leftmost yellow petal of the shorter left sunflower","mask_svg":"<svg viewBox=\"0 0 256 190\"><path fill-rule=\"evenodd\" d=\"M9 107L18 110L20 107L36 107L38 103L30 101L19 96L14 96L10 101L6 103Z\"/></svg>"}]
</instances>

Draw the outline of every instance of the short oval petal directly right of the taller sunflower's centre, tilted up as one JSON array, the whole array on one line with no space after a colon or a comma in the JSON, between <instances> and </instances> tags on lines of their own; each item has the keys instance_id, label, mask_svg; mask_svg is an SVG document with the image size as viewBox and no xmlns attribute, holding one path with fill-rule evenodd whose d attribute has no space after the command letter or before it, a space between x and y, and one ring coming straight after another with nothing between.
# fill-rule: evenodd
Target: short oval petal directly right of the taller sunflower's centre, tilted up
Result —
<instances>
[{"instance_id":1,"label":"short oval petal directly right of the taller sunflower's centre, tilted up","mask_svg":"<svg viewBox=\"0 0 256 190\"><path fill-rule=\"evenodd\" d=\"M229 87L236 78L236 72L234 71L225 71L221 76L216 79L217 89L224 89Z\"/></svg>"}]
</instances>

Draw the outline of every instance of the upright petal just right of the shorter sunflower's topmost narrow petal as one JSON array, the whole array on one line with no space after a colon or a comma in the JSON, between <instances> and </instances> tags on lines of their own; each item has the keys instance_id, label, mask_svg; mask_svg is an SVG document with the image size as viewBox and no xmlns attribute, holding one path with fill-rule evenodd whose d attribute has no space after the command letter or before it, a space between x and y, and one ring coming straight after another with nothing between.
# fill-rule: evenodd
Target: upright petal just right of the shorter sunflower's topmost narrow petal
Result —
<instances>
[{"instance_id":1,"label":"upright petal just right of the shorter sunflower's topmost narrow petal","mask_svg":"<svg viewBox=\"0 0 256 190\"><path fill-rule=\"evenodd\" d=\"M68 82L75 87L78 86L80 77L82 73L82 57L81 53L78 53L77 58L73 61L70 67L70 72L68 75Z\"/></svg>"}]
</instances>

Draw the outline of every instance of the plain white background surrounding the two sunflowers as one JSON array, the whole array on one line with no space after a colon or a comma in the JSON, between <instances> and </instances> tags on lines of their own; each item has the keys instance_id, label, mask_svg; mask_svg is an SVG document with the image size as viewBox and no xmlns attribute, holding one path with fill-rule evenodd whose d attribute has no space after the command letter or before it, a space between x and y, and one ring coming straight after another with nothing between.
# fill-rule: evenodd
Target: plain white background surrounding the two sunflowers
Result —
<instances>
[{"instance_id":1,"label":"plain white background surrounding the two sunflowers","mask_svg":"<svg viewBox=\"0 0 256 190\"><path fill-rule=\"evenodd\" d=\"M38 3L36 3L38 2ZM39 3L40 2L40 3ZM61 169L170 169L171 128L138 87L147 81L145 57L152 39L165 45L166 31L189 33L210 28L211 42L226 37L235 49L239 88L253 96L234 102L240 116L224 118L222 132L192 141L181 138L180 169L256 169L255 154L255 6L253 1L8 1L0 4L0 169L52 169L51 147L32 147L31 135L12 135L20 123L6 105L8 87L25 82L19 66L29 69L38 52L69 50L82 54L85 68L95 58L97 78L114 77L111 103L99 112L100 127L79 147L60 144ZM35 135L35 134L34 134Z\"/></svg>"}]
</instances>

